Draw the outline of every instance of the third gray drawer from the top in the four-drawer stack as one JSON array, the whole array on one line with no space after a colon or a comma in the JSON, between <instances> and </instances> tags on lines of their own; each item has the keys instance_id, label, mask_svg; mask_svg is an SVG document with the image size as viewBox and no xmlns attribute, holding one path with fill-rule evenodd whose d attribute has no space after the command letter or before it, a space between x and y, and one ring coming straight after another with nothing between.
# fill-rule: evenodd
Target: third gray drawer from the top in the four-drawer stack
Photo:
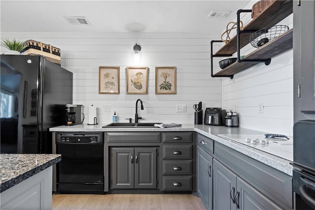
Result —
<instances>
[{"instance_id":1,"label":"third gray drawer from the top in the four-drawer stack","mask_svg":"<svg viewBox=\"0 0 315 210\"><path fill-rule=\"evenodd\" d=\"M192 175L192 160L163 160L162 175Z\"/></svg>"}]
</instances>

